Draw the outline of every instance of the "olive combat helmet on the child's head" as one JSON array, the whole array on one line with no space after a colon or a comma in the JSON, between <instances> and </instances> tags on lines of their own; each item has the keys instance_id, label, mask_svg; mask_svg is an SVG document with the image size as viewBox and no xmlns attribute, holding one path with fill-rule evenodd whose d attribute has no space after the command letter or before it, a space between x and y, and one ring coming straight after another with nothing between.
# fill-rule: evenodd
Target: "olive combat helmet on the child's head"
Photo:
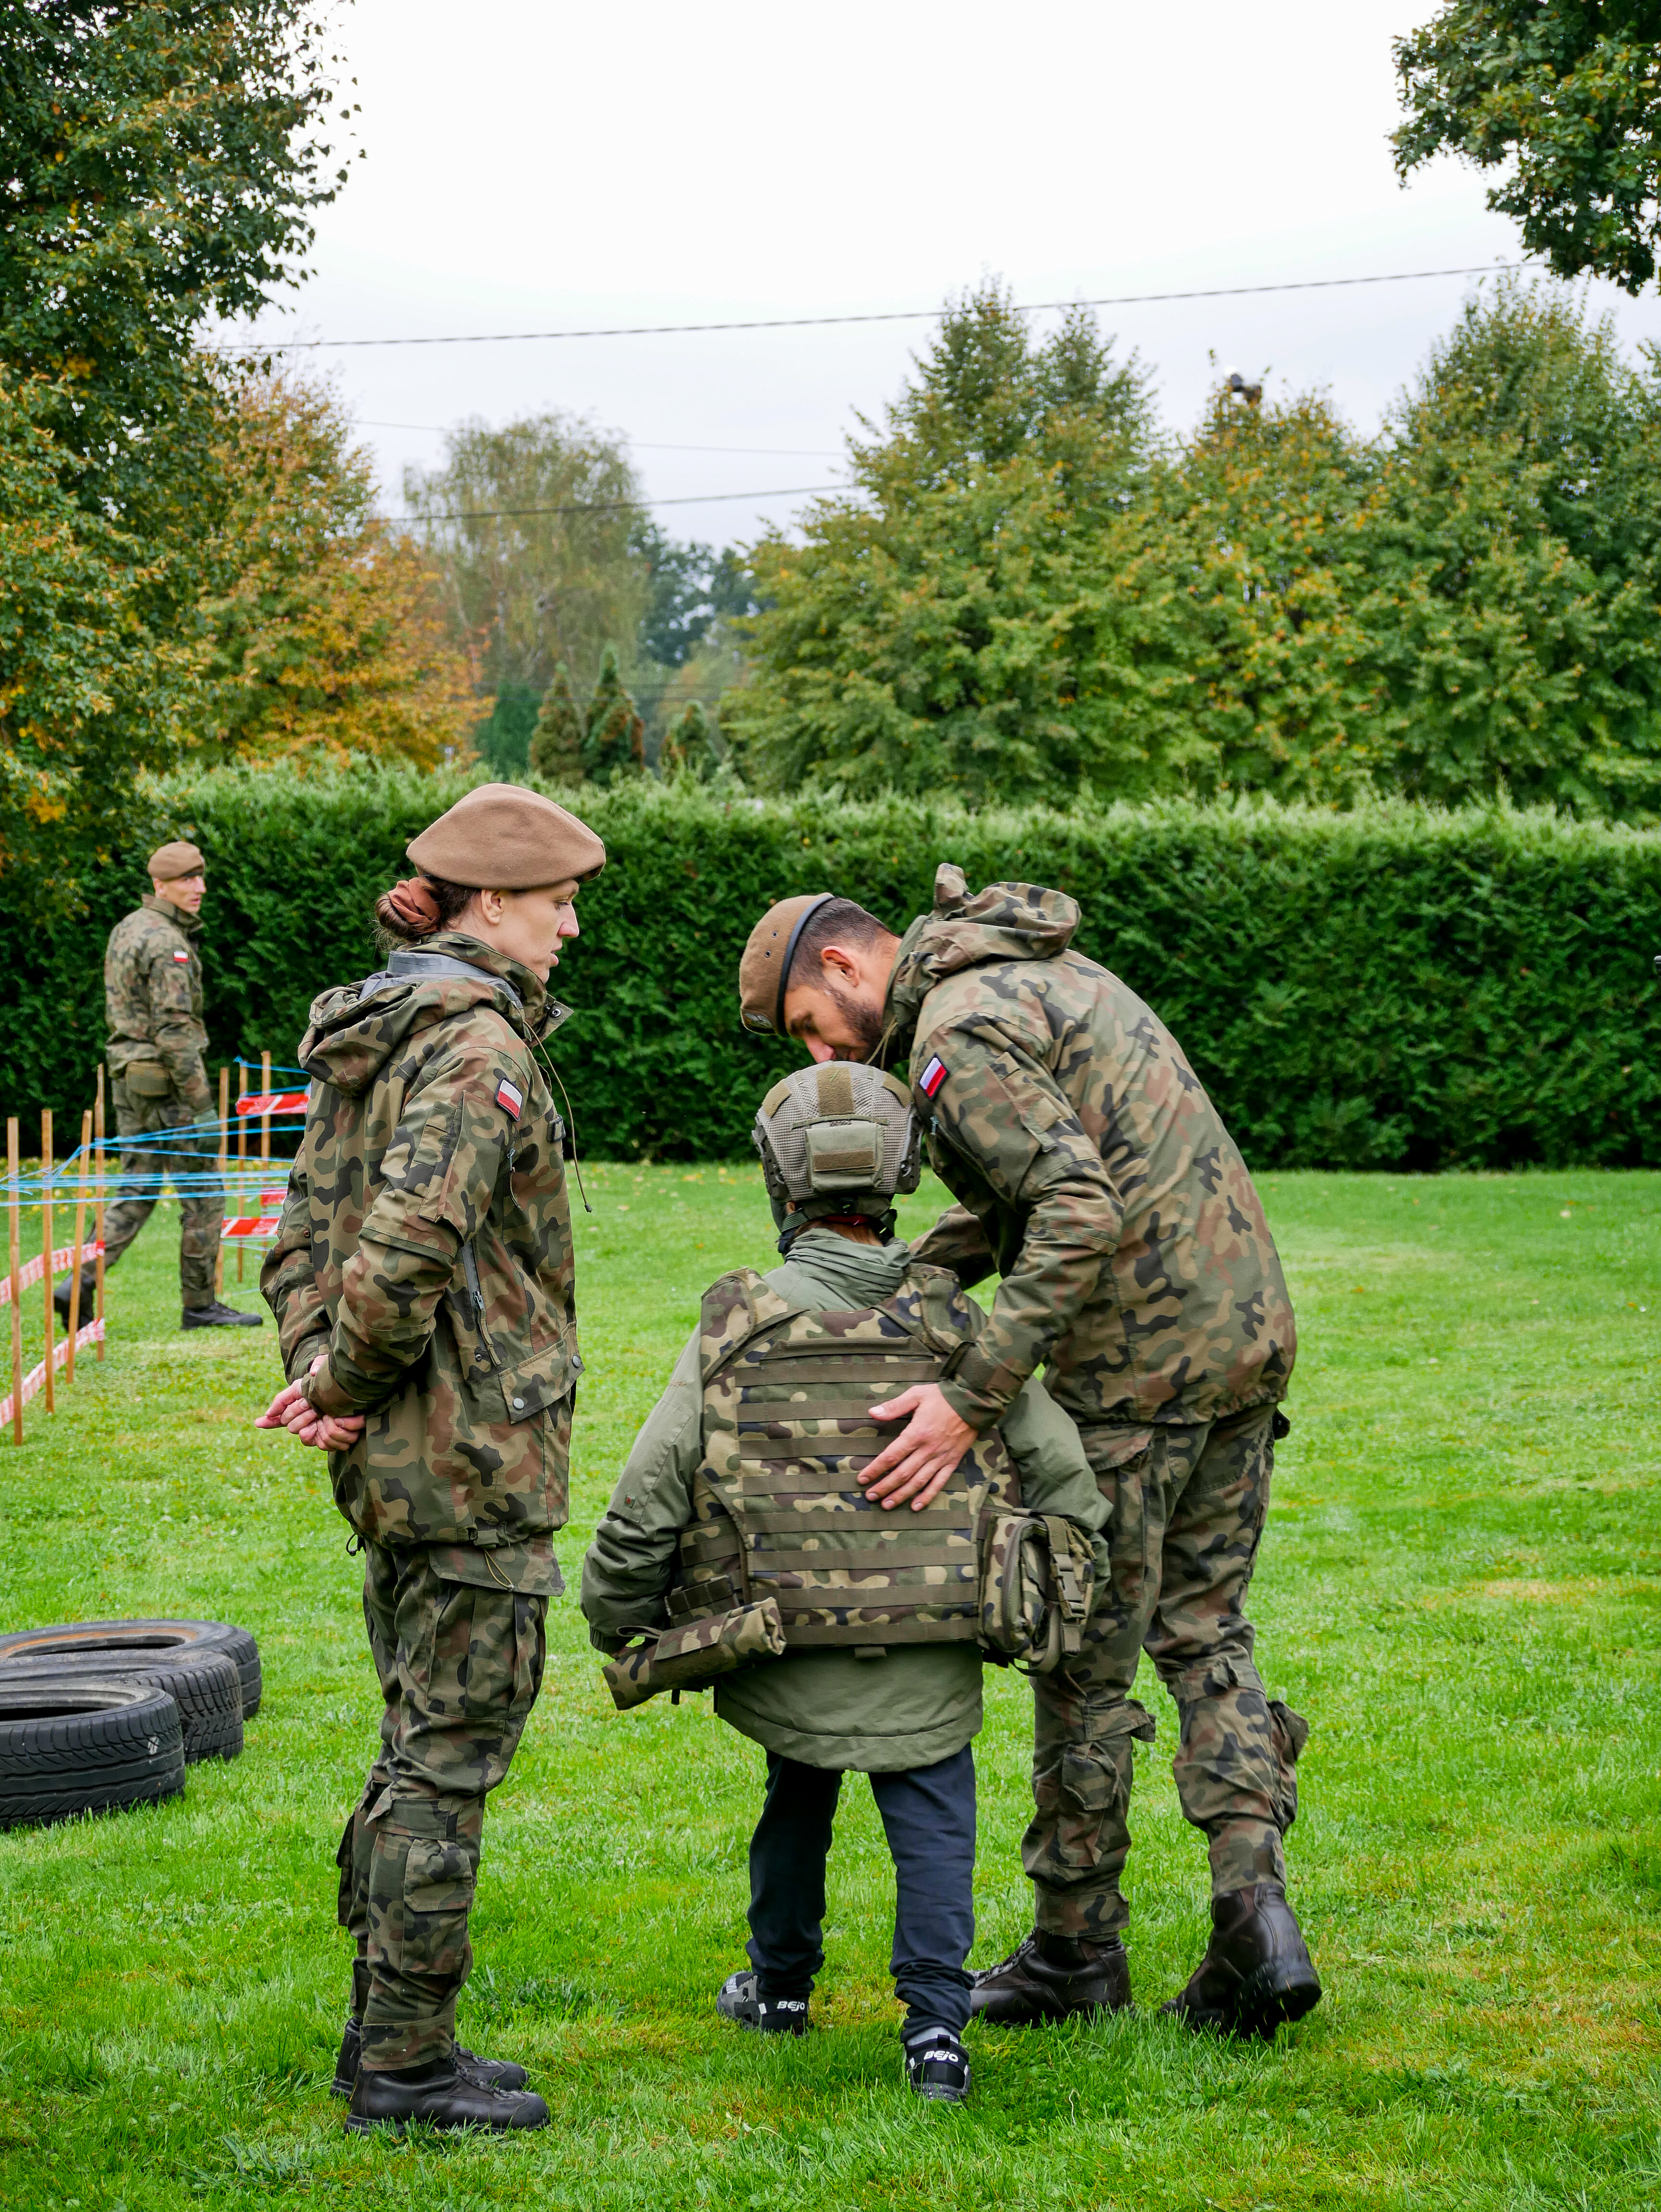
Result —
<instances>
[{"instance_id":1,"label":"olive combat helmet on the child's head","mask_svg":"<svg viewBox=\"0 0 1661 2212\"><path fill-rule=\"evenodd\" d=\"M827 1060L774 1084L754 1119L779 1250L836 1214L894 1234L894 1199L918 1188L922 1130L911 1093L882 1068Z\"/></svg>"}]
</instances>

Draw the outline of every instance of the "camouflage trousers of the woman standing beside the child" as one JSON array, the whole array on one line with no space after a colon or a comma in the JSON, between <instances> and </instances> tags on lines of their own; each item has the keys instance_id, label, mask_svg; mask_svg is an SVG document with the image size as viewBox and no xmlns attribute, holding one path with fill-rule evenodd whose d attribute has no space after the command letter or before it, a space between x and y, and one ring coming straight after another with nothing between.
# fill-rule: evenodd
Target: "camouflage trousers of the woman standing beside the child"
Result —
<instances>
[{"instance_id":1,"label":"camouflage trousers of the woman standing beside the child","mask_svg":"<svg viewBox=\"0 0 1661 2212\"><path fill-rule=\"evenodd\" d=\"M369 2070L422 2066L456 2042L484 1796L542 1688L546 1615L546 1597L445 1582L418 1544L363 1546L363 1619L385 1712L380 1756L336 1863Z\"/></svg>"}]
</instances>

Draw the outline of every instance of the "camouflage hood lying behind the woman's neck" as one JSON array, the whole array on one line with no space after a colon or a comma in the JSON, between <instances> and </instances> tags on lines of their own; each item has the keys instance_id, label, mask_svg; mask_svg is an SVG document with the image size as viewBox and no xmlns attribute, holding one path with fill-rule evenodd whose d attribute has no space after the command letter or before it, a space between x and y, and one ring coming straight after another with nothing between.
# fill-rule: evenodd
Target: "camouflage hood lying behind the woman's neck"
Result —
<instances>
[{"instance_id":1,"label":"camouflage hood lying behind the woman's neck","mask_svg":"<svg viewBox=\"0 0 1661 2212\"><path fill-rule=\"evenodd\" d=\"M301 1066L358 1097L418 1031L480 1004L495 1006L526 1044L551 1035L571 1013L518 960L478 938L442 931L420 947L398 949L363 982L314 998Z\"/></svg>"}]
</instances>

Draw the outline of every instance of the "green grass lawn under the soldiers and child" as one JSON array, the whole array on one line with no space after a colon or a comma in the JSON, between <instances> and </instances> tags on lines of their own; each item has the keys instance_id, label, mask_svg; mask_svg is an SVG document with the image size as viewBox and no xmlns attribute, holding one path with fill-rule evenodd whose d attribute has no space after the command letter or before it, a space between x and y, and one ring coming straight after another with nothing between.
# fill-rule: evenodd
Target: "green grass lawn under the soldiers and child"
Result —
<instances>
[{"instance_id":1,"label":"green grass lawn under the soldiers and child","mask_svg":"<svg viewBox=\"0 0 1661 2212\"><path fill-rule=\"evenodd\" d=\"M703 1283L770 1254L754 1170L588 1188L573 1584ZM518 2143L341 2132L334 1845L378 1710L358 1573L321 1460L250 1427L274 1329L177 1334L164 1212L111 1279L104 1365L0 1444L0 1626L243 1621L265 1708L170 1805L0 1836L0 2203L1661 2203L1661 1177L1281 1175L1265 1201L1303 1358L1254 1615L1270 1694L1312 1723L1289 1860L1318 2011L1274 2048L1157 2017L1203 1949L1205 1856L1143 1670L1135 2017L971 2031L971 2106L918 2106L854 1781L816 2033L719 2024L761 1754L703 1699L615 1714L566 1599L462 1997L464 2037L553 2108ZM978 1962L1028 1924L1028 1728L1024 1683L991 1677Z\"/></svg>"}]
</instances>

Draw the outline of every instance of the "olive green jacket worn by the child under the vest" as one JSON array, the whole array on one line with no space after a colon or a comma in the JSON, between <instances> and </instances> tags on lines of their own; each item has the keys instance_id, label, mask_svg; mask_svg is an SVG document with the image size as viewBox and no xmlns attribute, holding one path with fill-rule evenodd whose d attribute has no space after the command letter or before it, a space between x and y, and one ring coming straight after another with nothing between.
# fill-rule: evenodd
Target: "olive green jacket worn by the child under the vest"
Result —
<instances>
[{"instance_id":1,"label":"olive green jacket worn by the child under the vest","mask_svg":"<svg viewBox=\"0 0 1661 2212\"><path fill-rule=\"evenodd\" d=\"M894 1296L909 1256L898 1241L874 1250L836 1230L805 1230L767 1283L814 1312L863 1307ZM1031 1383L1004 1416L1002 1433L1020 1471L1022 1500L1066 1513L1090 1531L1099 1586L1106 1586L1108 1504L1068 1416ZM635 1438L582 1564L582 1610L599 1650L615 1650L621 1639L666 1619L664 1597L679 1533L692 1522L692 1478L701 1460L703 1376L694 1332ZM803 1765L887 1774L951 1759L980 1732L980 1670L975 1644L896 1644L885 1659L796 1650L723 1677L714 1710L765 1750Z\"/></svg>"}]
</instances>

